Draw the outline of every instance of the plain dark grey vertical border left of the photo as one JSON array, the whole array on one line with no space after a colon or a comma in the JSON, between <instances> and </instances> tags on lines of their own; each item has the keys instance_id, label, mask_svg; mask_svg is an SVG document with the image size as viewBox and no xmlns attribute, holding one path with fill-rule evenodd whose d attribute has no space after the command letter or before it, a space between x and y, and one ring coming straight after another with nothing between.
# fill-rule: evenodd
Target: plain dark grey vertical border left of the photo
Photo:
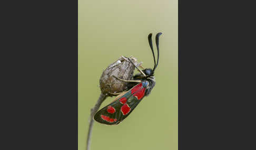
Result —
<instances>
[{"instance_id":1,"label":"plain dark grey vertical border left of the photo","mask_svg":"<svg viewBox=\"0 0 256 150\"><path fill-rule=\"evenodd\" d=\"M0 149L78 148L77 4L1 4Z\"/></svg>"}]
</instances>

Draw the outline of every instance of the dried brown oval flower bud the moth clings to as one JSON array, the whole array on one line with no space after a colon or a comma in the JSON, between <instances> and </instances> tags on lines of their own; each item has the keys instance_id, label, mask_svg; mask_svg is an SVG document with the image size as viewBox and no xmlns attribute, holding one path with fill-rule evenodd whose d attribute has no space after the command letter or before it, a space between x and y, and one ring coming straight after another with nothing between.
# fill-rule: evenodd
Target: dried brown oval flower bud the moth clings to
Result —
<instances>
[{"instance_id":1,"label":"dried brown oval flower bud the moth clings to","mask_svg":"<svg viewBox=\"0 0 256 150\"><path fill-rule=\"evenodd\" d=\"M137 63L137 60L134 57L131 56L130 59L134 65L139 66L139 63ZM133 72L135 70L134 65L128 60L128 58L123 56L114 63L111 63L111 65L102 73L100 79L101 92L108 96L113 96L111 93L120 93L127 90L127 83L120 81L115 77L123 80L132 80Z\"/></svg>"}]
</instances>

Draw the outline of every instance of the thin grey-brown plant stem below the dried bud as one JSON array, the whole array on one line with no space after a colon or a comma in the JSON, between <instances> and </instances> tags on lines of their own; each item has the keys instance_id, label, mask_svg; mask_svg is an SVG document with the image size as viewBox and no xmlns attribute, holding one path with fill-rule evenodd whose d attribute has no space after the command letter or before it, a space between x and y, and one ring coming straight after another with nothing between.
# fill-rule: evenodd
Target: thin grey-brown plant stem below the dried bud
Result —
<instances>
[{"instance_id":1,"label":"thin grey-brown plant stem below the dried bud","mask_svg":"<svg viewBox=\"0 0 256 150\"><path fill-rule=\"evenodd\" d=\"M94 123L93 116L95 115L97 110L99 110L102 102L106 99L106 97L107 97L106 95L101 93L98 101L96 102L94 107L91 109L90 125L89 125L88 135L87 135L87 147L86 147L86 150L90 150L90 147L91 147L92 128L93 128L93 123Z\"/></svg>"}]
</instances>

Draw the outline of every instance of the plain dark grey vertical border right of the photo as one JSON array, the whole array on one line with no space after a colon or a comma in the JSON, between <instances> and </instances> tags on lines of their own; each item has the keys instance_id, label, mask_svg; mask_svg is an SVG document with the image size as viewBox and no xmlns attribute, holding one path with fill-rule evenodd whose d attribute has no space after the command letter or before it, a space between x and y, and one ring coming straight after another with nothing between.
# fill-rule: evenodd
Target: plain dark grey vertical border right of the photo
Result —
<instances>
[{"instance_id":1,"label":"plain dark grey vertical border right of the photo","mask_svg":"<svg viewBox=\"0 0 256 150\"><path fill-rule=\"evenodd\" d=\"M179 149L255 149L255 5L179 0Z\"/></svg>"}]
</instances>

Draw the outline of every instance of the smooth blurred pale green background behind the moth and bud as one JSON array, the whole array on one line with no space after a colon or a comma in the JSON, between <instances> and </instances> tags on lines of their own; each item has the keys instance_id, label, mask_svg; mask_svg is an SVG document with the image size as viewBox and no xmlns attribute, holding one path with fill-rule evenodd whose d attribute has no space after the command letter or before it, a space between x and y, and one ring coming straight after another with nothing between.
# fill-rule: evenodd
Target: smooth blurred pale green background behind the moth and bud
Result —
<instances>
[{"instance_id":1,"label":"smooth blurred pale green background behind the moth and bud","mask_svg":"<svg viewBox=\"0 0 256 150\"><path fill-rule=\"evenodd\" d=\"M95 122L91 149L178 149L178 0L78 0L78 149L86 148L90 109L103 70L120 56L153 67L147 35L160 36L156 85L120 125ZM137 73L137 71L135 72ZM101 108L113 101L107 98Z\"/></svg>"}]
</instances>

